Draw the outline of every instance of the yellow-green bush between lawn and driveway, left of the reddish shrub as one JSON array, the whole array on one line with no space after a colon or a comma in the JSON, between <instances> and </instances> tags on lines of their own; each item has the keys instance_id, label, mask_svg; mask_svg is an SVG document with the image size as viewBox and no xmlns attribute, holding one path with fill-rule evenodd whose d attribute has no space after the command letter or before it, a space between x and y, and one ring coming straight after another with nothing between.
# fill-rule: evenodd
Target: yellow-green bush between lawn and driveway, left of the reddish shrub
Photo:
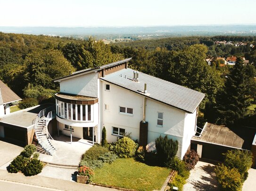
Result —
<instances>
[{"instance_id":1,"label":"yellow-green bush between lawn and driveway, left of the reddish shrub","mask_svg":"<svg viewBox=\"0 0 256 191\"><path fill-rule=\"evenodd\" d=\"M185 180L190 176L190 171L187 170L186 163L183 160L180 160L178 157L173 158L170 168L178 171L178 174L185 178Z\"/></svg>"}]
</instances>

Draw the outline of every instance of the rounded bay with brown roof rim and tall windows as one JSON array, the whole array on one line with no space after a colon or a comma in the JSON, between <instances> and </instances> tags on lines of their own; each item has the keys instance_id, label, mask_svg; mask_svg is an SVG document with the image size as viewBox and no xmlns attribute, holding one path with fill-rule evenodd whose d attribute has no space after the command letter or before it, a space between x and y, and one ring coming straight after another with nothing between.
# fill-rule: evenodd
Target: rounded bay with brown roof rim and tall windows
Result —
<instances>
[{"instance_id":1,"label":"rounded bay with brown roof rim and tall windows","mask_svg":"<svg viewBox=\"0 0 256 191\"><path fill-rule=\"evenodd\" d=\"M94 122L94 113L98 107L98 98L72 94L55 94L57 119L69 121L69 123Z\"/></svg>"}]
</instances>

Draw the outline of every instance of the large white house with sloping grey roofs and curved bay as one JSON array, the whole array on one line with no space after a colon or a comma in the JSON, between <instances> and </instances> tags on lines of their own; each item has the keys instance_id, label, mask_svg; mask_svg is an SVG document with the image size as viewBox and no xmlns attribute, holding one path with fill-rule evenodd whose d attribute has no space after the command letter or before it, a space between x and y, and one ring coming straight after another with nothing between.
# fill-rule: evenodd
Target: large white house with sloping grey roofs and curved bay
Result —
<instances>
[{"instance_id":1,"label":"large white house with sloping grey roofs and curved bay","mask_svg":"<svg viewBox=\"0 0 256 191\"><path fill-rule=\"evenodd\" d=\"M55 79L58 130L99 143L131 133L140 145L153 145L160 135L178 140L182 158L195 134L198 106L204 94L113 62Z\"/></svg>"}]
</instances>

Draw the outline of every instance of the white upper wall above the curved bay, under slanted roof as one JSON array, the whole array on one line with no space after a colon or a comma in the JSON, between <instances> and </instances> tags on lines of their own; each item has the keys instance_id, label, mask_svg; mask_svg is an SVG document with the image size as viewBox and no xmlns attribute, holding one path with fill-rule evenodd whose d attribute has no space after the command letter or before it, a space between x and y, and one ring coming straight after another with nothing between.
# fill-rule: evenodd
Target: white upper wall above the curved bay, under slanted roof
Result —
<instances>
[{"instance_id":1,"label":"white upper wall above the curved bay, under slanted roof","mask_svg":"<svg viewBox=\"0 0 256 191\"><path fill-rule=\"evenodd\" d=\"M76 76L60 82L60 92L83 95L88 97L98 97L97 91L98 75L89 73Z\"/></svg>"}]
</instances>

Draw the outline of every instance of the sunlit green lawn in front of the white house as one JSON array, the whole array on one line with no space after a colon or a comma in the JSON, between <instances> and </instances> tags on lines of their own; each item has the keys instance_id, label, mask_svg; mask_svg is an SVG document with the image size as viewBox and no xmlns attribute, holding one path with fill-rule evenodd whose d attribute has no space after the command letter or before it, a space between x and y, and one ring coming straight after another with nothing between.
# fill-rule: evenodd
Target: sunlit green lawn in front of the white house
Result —
<instances>
[{"instance_id":1,"label":"sunlit green lawn in front of the white house","mask_svg":"<svg viewBox=\"0 0 256 191\"><path fill-rule=\"evenodd\" d=\"M161 189L170 169L148 166L133 158L121 158L112 164L105 163L94 172L94 183L137 191L152 191Z\"/></svg>"}]
</instances>

